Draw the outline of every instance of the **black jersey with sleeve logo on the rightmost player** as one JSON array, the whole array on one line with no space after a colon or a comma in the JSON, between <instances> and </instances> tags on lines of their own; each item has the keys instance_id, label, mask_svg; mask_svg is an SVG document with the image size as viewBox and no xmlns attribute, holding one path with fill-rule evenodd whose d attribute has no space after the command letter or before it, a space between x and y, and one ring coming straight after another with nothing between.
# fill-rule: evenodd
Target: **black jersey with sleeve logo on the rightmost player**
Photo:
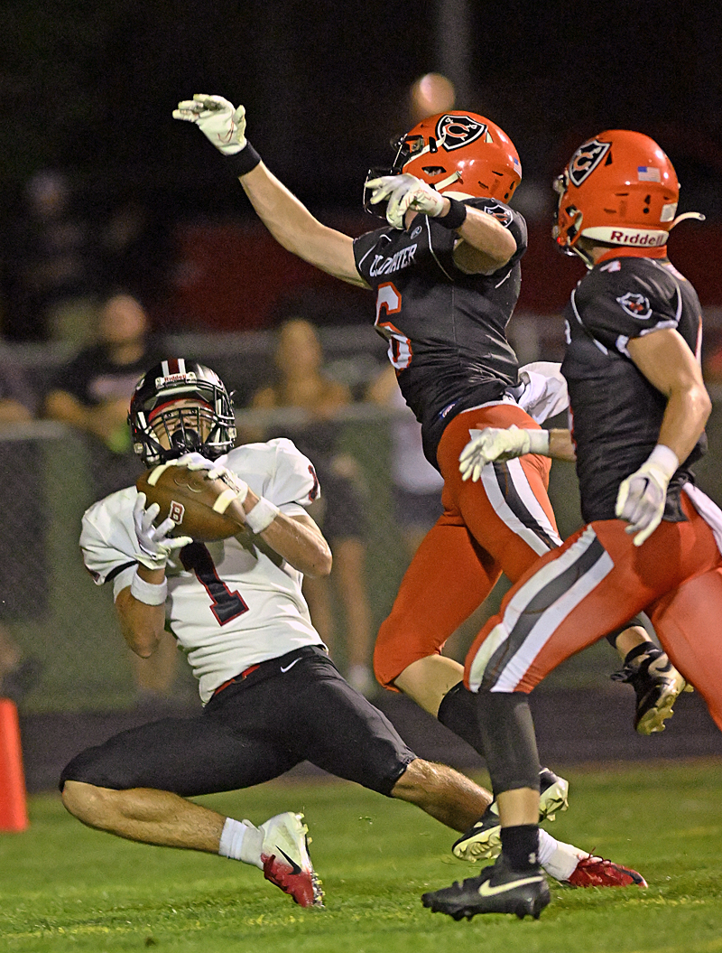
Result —
<instances>
[{"instance_id":1,"label":"black jersey with sleeve logo on the rightmost player","mask_svg":"<svg viewBox=\"0 0 722 953\"><path fill-rule=\"evenodd\" d=\"M702 311L687 279L667 259L619 256L597 264L578 283L565 312L562 374L572 407L576 472L585 522L613 519L619 484L637 470L659 438L667 406L637 369L627 345L673 328L699 358ZM683 520L682 484L705 452L703 435L672 477L665 519Z\"/></svg>"}]
</instances>

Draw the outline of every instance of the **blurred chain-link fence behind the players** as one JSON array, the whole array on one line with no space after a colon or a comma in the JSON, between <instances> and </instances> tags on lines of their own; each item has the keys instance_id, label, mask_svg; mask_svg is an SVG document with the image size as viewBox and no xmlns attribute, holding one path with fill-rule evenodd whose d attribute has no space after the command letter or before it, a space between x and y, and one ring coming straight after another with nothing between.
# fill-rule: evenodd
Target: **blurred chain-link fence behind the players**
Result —
<instances>
[{"instance_id":1,"label":"blurred chain-link fence behind the players","mask_svg":"<svg viewBox=\"0 0 722 953\"><path fill-rule=\"evenodd\" d=\"M708 425L710 452L695 468L700 486L717 501L722 501L721 408L715 402ZM368 598L371 639L391 608L409 559L391 477L397 419L370 404L349 406L333 424L332 454L326 461L331 467L340 461L361 513L354 533L363 544L358 575ZM238 424L241 433L260 428L265 436L286 434L304 450L318 439L318 425L293 413L242 412ZM308 452L313 458L312 449ZM0 434L0 625L27 657L42 664L39 684L23 702L26 711L108 710L130 707L136 700L130 652L114 617L110 586L93 585L78 537L90 503L129 485L139 472L134 457L103 456L99 443L60 424L38 421ZM572 465L553 465L550 494L560 532L569 535L581 518ZM314 515L328 532L330 514L321 510ZM487 604L450 640L449 654L463 659L478 626L505 591L502 579ZM333 655L344 669L350 608L339 585L331 585L327 609L336 630ZM319 628L320 623L319 618ZM599 684L616 666L616 656L603 641L570 659L545 684ZM173 693L190 701L194 683L187 666L180 669Z\"/></svg>"}]
</instances>

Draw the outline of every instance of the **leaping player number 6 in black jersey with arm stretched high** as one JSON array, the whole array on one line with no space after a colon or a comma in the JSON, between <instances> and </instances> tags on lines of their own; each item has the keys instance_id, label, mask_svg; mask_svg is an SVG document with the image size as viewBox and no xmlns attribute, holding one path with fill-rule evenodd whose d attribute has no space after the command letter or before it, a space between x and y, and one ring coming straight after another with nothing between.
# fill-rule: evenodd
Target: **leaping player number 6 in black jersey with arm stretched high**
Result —
<instances>
[{"instance_id":1,"label":"leaping player number 6 in black jersey with arm stretched high","mask_svg":"<svg viewBox=\"0 0 722 953\"><path fill-rule=\"evenodd\" d=\"M226 155L284 248L376 293L375 327L389 341L401 392L422 424L426 456L444 477L445 512L381 626L374 671L480 751L462 666L441 650L502 573L518 579L561 543L546 456L489 467L478 485L458 471L471 427L540 430L508 394L518 368L506 327L527 244L526 223L507 204L521 180L516 150L505 132L475 113L425 119L400 140L391 174L367 180L367 205L383 207L388 224L354 240L319 222L269 172L246 138L243 107L198 93L173 116L198 125ZM648 658L652 643L643 628L622 624L611 638L623 656L641 644ZM656 679L649 666L640 675L640 704L655 706ZM680 690L682 679L676 684ZM547 772L542 784L543 813L552 815L566 805L566 782ZM478 856L498 826L491 811L454 852L465 856L473 843Z\"/></svg>"}]
</instances>

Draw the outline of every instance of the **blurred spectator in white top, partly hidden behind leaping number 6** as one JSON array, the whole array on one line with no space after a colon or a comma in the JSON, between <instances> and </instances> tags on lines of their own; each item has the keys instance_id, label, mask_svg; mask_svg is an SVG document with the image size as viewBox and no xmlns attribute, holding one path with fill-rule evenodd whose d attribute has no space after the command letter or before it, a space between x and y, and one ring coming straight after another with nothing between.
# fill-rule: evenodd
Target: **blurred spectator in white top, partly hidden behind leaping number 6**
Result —
<instances>
[{"instance_id":1,"label":"blurred spectator in white top, partly hidden behind leaping number 6","mask_svg":"<svg viewBox=\"0 0 722 953\"><path fill-rule=\"evenodd\" d=\"M404 540L407 561L411 562L419 543L441 516L444 480L424 456L421 424L401 395L391 364L387 364L371 381L367 399L393 412L391 490L394 518Z\"/></svg>"}]
</instances>

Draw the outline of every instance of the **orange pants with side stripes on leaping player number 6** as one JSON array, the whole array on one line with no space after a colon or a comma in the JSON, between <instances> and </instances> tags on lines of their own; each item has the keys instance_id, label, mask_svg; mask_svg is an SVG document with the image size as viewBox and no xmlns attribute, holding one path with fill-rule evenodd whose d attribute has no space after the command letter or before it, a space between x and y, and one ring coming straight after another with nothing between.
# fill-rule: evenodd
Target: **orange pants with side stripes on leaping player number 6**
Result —
<instances>
[{"instance_id":1,"label":"orange pants with side stripes on leaping player number 6","mask_svg":"<svg viewBox=\"0 0 722 953\"><path fill-rule=\"evenodd\" d=\"M411 560L376 639L373 669L387 688L411 662L440 654L502 572L514 581L561 543L547 495L549 457L522 456L486 467L475 483L461 478L459 455L470 428L511 424L540 429L520 407L505 402L455 416L441 437L444 512Z\"/></svg>"}]
</instances>

